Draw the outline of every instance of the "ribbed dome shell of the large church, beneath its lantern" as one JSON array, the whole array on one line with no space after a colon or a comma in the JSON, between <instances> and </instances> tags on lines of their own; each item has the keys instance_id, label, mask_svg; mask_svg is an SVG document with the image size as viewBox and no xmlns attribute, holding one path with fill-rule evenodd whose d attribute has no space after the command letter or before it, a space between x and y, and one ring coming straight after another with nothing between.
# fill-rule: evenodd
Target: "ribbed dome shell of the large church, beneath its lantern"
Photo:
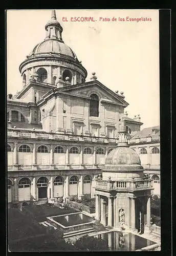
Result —
<instances>
[{"instance_id":1,"label":"ribbed dome shell of the large church, beneath its lantern","mask_svg":"<svg viewBox=\"0 0 176 256\"><path fill-rule=\"evenodd\" d=\"M40 42L40 44L34 47L29 56L38 53L64 54L76 58L76 54L72 51L72 49L69 46L53 38Z\"/></svg>"}]
</instances>

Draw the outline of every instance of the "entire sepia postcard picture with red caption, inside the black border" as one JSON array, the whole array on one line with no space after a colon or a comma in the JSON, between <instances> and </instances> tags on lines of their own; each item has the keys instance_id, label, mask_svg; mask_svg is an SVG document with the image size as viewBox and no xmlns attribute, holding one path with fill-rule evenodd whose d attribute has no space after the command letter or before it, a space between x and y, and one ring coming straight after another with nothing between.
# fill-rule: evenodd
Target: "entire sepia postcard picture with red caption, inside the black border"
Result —
<instances>
[{"instance_id":1,"label":"entire sepia postcard picture with red caption, inside the black border","mask_svg":"<svg viewBox=\"0 0 176 256\"><path fill-rule=\"evenodd\" d=\"M9 252L160 251L159 10L6 19Z\"/></svg>"}]
</instances>

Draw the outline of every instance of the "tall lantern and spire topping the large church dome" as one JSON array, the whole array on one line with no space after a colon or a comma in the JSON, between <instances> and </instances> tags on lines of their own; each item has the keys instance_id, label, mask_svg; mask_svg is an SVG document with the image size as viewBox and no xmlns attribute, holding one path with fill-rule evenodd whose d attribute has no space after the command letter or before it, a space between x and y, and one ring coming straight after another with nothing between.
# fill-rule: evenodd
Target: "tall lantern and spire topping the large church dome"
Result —
<instances>
[{"instance_id":1,"label":"tall lantern and spire topping the large church dome","mask_svg":"<svg viewBox=\"0 0 176 256\"><path fill-rule=\"evenodd\" d=\"M52 10L51 19L46 24L45 29L47 31L45 40L53 38L60 42L63 42L63 40L62 40L63 29L62 29L60 23L56 19L56 11L55 10Z\"/></svg>"}]
</instances>

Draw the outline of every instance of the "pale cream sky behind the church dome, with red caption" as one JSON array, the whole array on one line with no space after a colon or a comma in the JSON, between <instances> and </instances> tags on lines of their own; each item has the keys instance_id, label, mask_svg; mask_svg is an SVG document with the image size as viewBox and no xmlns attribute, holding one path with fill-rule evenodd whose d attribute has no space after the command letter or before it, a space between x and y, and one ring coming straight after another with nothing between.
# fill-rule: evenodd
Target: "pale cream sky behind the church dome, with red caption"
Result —
<instances>
[{"instance_id":1,"label":"pale cream sky behind the church dome, with red caption","mask_svg":"<svg viewBox=\"0 0 176 256\"><path fill-rule=\"evenodd\" d=\"M124 92L125 111L130 118L140 114L141 129L159 125L159 10L56 10L56 16L63 41L87 70L86 81L96 72L106 87ZM72 22L71 17L96 21ZM23 88L19 65L45 39L50 18L51 10L7 11L7 93Z\"/></svg>"}]
</instances>

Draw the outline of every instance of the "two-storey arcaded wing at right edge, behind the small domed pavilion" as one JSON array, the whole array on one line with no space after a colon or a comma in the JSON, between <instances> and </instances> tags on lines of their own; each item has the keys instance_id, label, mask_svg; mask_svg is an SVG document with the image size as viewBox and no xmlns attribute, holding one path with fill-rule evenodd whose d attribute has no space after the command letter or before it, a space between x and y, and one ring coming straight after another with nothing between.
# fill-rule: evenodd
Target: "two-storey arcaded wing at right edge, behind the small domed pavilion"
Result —
<instances>
[{"instance_id":1,"label":"two-storey arcaded wing at right edge, behind the small domed pavilion","mask_svg":"<svg viewBox=\"0 0 176 256\"><path fill-rule=\"evenodd\" d=\"M144 174L153 179L153 194L160 196L160 126L144 128L129 144L139 154Z\"/></svg>"}]
</instances>

